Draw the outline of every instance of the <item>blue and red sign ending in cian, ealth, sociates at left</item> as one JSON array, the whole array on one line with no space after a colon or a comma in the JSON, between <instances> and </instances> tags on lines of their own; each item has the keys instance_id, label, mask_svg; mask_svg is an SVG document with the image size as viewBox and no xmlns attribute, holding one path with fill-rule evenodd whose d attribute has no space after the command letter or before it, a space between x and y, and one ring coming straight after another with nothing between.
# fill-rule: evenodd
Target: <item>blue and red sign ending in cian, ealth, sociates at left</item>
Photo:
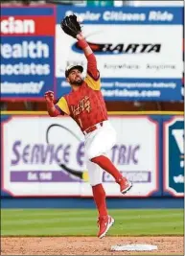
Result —
<instances>
[{"instance_id":1,"label":"blue and red sign ending in cian, ealth, sociates at left","mask_svg":"<svg viewBox=\"0 0 185 256\"><path fill-rule=\"evenodd\" d=\"M55 90L54 8L2 8L1 15L1 99L43 100Z\"/></svg>"}]
</instances>

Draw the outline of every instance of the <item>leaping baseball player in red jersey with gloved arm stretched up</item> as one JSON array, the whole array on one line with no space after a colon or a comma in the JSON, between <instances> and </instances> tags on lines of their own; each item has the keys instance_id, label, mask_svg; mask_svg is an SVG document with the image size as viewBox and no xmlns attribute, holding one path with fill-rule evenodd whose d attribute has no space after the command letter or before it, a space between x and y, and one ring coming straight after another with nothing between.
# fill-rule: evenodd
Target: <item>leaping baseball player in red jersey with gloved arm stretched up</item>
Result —
<instances>
[{"instance_id":1,"label":"leaping baseball player in red jersey with gloved arm stretched up","mask_svg":"<svg viewBox=\"0 0 185 256\"><path fill-rule=\"evenodd\" d=\"M100 72L97 69L96 58L81 33L81 25L76 15L65 17L61 28L67 35L78 39L78 44L87 59L86 77L82 79L83 67L71 65L65 70L66 81L71 85L71 92L61 97L54 105L54 92L45 93L45 101L50 116L67 114L72 117L84 134L86 168L92 186L93 197L99 212L98 237L103 238L114 223L108 215L105 192L102 185L103 170L115 178L120 185L122 194L126 194L132 184L121 175L106 153L116 142L116 133L108 121L104 98L101 93Z\"/></svg>"}]
</instances>

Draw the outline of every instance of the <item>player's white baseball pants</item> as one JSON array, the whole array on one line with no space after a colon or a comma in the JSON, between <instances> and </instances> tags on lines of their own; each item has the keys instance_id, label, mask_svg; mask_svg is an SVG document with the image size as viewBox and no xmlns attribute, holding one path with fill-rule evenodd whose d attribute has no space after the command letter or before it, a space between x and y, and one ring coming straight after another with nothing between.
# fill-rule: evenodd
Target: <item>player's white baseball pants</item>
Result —
<instances>
[{"instance_id":1,"label":"player's white baseball pants","mask_svg":"<svg viewBox=\"0 0 185 256\"><path fill-rule=\"evenodd\" d=\"M99 155L106 155L115 143L116 131L112 128L108 120L103 122L103 127L98 124L97 129L85 135L84 148L86 168L88 170L91 186L102 183L103 170L99 165L91 162L90 159Z\"/></svg>"}]
</instances>

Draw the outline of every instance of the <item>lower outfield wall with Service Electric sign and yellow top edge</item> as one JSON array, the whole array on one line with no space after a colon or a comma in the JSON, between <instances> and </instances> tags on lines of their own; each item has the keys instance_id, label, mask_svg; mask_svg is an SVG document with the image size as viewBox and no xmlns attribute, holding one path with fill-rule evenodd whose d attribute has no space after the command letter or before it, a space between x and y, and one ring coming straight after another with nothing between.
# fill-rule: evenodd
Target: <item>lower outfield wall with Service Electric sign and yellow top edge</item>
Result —
<instances>
[{"instance_id":1,"label":"lower outfield wall with Service Electric sign and yellow top edge","mask_svg":"<svg viewBox=\"0 0 185 256\"><path fill-rule=\"evenodd\" d=\"M183 198L183 112L111 112L109 119L118 134L109 157L134 185L125 196L127 203L129 198L158 198L160 207L162 198ZM43 205L47 198L63 198L64 204L70 203L65 198L81 198L80 204L88 206L92 194L83 135L72 119L3 112L1 143L2 198L28 203L42 198ZM107 197L119 204L117 184L105 173L103 181Z\"/></svg>"}]
</instances>

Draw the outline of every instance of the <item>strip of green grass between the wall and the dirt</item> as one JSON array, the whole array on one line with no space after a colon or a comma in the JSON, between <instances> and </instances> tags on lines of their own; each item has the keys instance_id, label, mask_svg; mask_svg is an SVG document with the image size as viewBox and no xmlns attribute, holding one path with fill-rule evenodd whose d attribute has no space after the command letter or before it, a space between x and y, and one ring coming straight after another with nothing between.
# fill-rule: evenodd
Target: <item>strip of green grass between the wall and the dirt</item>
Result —
<instances>
[{"instance_id":1,"label":"strip of green grass between the wall and the dirt","mask_svg":"<svg viewBox=\"0 0 185 256\"><path fill-rule=\"evenodd\" d=\"M109 236L182 236L183 209L115 209ZM87 209L2 209L1 236L96 236L97 212Z\"/></svg>"}]
</instances>

